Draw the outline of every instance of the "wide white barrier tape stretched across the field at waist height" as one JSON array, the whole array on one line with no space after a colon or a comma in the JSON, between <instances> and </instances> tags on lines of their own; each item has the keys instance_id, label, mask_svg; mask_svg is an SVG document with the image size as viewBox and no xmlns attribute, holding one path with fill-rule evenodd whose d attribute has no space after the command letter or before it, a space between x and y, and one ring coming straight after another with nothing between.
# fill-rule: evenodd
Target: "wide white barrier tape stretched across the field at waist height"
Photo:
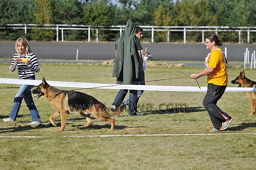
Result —
<instances>
[{"instance_id":1,"label":"wide white barrier tape stretched across the field at waist height","mask_svg":"<svg viewBox=\"0 0 256 170\"><path fill-rule=\"evenodd\" d=\"M8 79L0 78L0 83L17 84L17 85L39 85L41 80L29 79ZM206 92L207 87L192 87L192 86L164 86L164 85L116 85L116 84L100 84L100 83L85 83L85 82L56 82L47 81L51 86L70 87L70 88L102 88L102 89L130 89L130 90L145 90L145 91L192 91ZM113 86L111 86L113 85ZM108 86L108 87L102 87ZM226 92L256 92L256 88L226 88Z\"/></svg>"}]
</instances>

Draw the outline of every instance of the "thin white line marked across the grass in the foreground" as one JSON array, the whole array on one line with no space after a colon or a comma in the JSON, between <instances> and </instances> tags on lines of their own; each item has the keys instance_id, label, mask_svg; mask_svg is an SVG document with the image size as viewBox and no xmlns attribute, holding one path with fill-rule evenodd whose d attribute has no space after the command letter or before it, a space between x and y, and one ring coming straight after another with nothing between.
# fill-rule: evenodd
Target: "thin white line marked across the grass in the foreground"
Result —
<instances>
[{"instance_id":1,"label":"thin white line marked across the grass in the foreground","mask_svg":"<svg viewBox=\"0 0 256 170\"><path fill-rule=\"evenodd\" d=\"M211 135L256 135L256 133L202 133L202 134L152 134L152 135L87 135L59 137L132 137L132 136L211 136ZM0 138L47 138L49 136L0 136ZM56 137L56 136L53 136Z\"/></svg>"}]
</instances>

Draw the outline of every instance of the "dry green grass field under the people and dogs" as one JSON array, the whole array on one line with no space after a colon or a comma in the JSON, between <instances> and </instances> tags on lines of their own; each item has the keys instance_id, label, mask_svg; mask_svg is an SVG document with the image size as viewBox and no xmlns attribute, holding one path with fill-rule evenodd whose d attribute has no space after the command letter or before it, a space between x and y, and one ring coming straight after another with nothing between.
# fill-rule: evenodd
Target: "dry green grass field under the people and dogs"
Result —
<instances>
[{"instance_id":1,"label":"dry green grass field under the people and dogs","mask_svg":"<svg viewBox=\"0 0 256 170\"><path fill-rule=\"evenodd\" d=\"M36 79L68 82L115 83L111 66L87 65L41 65ZM147 67L146 80L189 76L201 71L201 67ZM231 67L230 81L242 68ZM245 70L248 78L256 80L255 70ZM9 65L0 64L1 78L17 78ZM198 79L200 86L207 86L205 78ZM148 82L147 85L197 86L190 78ZM61 88L72 89L72 88ZM65 130L49 124L49 116L55 112L44 97L34 99L42 124L32 127L25 102L22 103L17 121L6 123L18 85L0 84L0 136L42 136L44 138L0 138L0 169L50 169L50 170L148 170L148 169L255 169L255 135L218 136L147 136L147 137L65 137L86 135L128 134L183 134L208 133L213 128L202 100L205 92L145 91L139 105L143 116L127 116L125 111L116 117L115 130L108 122L93 119L87 129L79 114L67 116ZM118 90L87 89L90 94L104 103L111 104ZM177 111L178 105L186 110ZM166 106L168 106L166 108ZM233 117L233 121L222 133L256 133L256 115L250 113L250 101L244 93L226 92L218 106Z\"/></svg>"}]
</instances>

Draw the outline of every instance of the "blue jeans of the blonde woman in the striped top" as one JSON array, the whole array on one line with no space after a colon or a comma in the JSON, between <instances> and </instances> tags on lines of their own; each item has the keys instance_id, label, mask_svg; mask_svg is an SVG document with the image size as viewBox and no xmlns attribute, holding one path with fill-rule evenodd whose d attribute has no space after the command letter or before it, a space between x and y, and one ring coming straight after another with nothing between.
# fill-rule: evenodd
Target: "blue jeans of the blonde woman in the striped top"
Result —
<instances>
[{"instance_id":1,"label":"blue jeans of the blonde woman in the striped top","mask_svg":"<svg viewBox=\"0 0 256 170\"><path fill-rule=\"evenodd\" d=\"M29 79L34 79L34 78L29 78ZM32 94L31 94L31 89L33 87L34 87L33 85L20 85L20 89L14 98L12 111L9 115L9 118L14 119L14 120L17 118L17 114L20 110L20 105L21 105L22 99L24 98L26 105L29 108L29 112L32 117L32 121L40 120L39 113L35 107L35 103L33 101Z\"/></svg>"}]
</instances>

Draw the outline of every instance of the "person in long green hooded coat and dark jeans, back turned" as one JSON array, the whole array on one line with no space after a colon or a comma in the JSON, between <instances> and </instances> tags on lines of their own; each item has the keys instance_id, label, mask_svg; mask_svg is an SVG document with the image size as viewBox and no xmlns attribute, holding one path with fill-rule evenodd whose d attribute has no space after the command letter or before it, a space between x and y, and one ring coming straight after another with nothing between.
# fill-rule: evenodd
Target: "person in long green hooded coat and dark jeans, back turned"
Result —
<instances>
[{"instance_id":1,"label":"person in long green hooded coat and dark jeans, back turned","mask_svg":"<svg viewBox=\"0 0 256 170\"><path fill-rule=\"evenodd\" d=\"M139 72L143 68L141 56L142 47L140 40L135 36L135 24L128 20L125 30L116 40L116 59L113 67L113 77L116 77L116 84L131 84L138 82ZM127 89L120 90L111 107L116 110L125 99ZM137 115L137 90L130 90L129 95L129 116Z\"/></svg>"}]
</instances>

